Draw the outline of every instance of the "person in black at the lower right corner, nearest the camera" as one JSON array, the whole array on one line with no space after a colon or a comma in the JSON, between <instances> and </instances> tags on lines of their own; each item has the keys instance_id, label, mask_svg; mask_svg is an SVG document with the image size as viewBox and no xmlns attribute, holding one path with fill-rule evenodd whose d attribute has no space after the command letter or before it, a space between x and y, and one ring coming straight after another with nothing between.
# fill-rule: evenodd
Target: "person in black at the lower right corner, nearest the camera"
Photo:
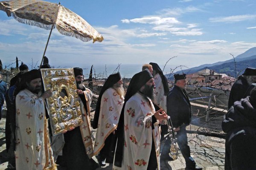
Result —
<instances>
[{"instance_id":1,"label":"person in black at the lower right corner, nearest the camera","mask_svg":"<svg viewBox=\"0 0 256 170\"><path fill-rule=\"evenodd\" d=\"M256 170L256 87L224 115L225 170Z\"/></svg>"}]
</instances>

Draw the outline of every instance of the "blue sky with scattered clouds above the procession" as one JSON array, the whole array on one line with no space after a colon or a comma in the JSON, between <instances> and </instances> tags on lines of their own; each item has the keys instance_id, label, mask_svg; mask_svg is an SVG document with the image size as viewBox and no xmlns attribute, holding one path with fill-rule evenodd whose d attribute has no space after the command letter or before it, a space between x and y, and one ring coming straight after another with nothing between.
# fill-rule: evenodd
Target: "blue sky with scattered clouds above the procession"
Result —
<instances>
[{"instance_id":1,"label":"blue sky with scattered clouds above the procession","mask_svg":"<svg viewBox=\"0 0 256 170\"><path fill-rule=\"evenodd\" d=\"M59 68L149 62L163 68L177 56L167 63L168 71L224 61L230 53L236 57L256 46L255 0L61 0L61 5L105 40L82 42L54 29L45 55ZM49 30L18 23L0 11L3 67L15 67L16 56L29 67L39 65L48 35Z\"/></svg>"}]
</instances>

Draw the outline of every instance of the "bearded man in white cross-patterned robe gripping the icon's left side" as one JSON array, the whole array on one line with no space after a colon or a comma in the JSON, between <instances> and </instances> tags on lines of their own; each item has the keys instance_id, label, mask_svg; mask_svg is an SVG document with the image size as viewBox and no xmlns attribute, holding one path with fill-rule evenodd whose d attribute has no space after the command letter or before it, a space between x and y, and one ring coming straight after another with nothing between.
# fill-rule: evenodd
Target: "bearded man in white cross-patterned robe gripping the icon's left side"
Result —
<instances>
[{"instance_id":1,"label":"bearded man in white cross-patterned robe gripping the icon's left side","mask_svg":"<svg viewBox=\"0 0 256 170\"><path fill-rule=\"evenodd\" d=\"M16 169L57 170L49 143L44 100L52 96L42 93L38 70L22 75L16 96Z\"/></svg>"}]
</instances>

